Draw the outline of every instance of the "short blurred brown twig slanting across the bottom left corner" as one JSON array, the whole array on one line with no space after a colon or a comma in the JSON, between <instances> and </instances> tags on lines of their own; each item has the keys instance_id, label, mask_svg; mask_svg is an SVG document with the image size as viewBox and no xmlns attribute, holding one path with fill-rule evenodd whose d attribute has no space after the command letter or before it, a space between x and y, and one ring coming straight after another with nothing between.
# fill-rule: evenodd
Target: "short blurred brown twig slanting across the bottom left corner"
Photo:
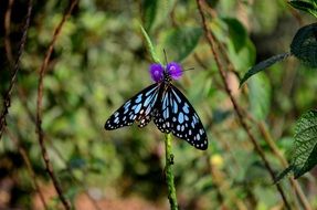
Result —
<instances>
[{"instance_id":1,"label":"short blurred brown twig slanting across the bottom left corner","mask_svg":"<svg viewBox=\"0 0 317 210\"><path fill-rule=\"evenodd\" d=\"M42 192L41 189L40 189L40 186L39 186L39 182L38 182L35 172L34 172L34 170L33 170L33 168L32 168L32 164L31 164L31 161L30 161L30 158L29 158L29 155L28 155L27 150L25 150L24 147L20 144L19 138L15 137L12 132L10 132L8 128L6 128L6 133L8 134L8 136L10 137L10 139L13 141L13 144L14 144L15 147L18 148L20 155L22 156L22 158L23 158L23 160L24 160L24 162L25 162L25 166L27 166L27 168L28 168L28 171L29 171L29 174L30 174L30 177L31 177L31 179L32 179L33 187L34 187L34 189L38 191L38 193L39 193L39 196L40 196L40 200L41 200L41 202L42 202L44 209L49 209L49 208L47 208L47 204L46 204L46 202L45 202L43 192Z\"/></svg>"}]
</instances>

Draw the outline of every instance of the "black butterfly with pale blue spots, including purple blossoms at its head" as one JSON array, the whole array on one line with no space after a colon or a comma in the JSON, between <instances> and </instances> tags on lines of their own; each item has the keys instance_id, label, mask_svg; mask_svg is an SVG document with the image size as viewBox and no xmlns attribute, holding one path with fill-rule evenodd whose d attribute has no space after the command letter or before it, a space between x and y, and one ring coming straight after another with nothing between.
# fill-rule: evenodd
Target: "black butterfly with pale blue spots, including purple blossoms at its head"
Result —
<instances>
[{"instance_id":1,"label":"black butterfly with pale blue spots, including purple blossoms at its head","mask_svg":"<svg viewBox=\"0 0 317 210\"><path fill-rule=\"evenodd\" d=\"M198 149L207 149L207 133L198 114L186 96L171 84L172 80L181 77L182 67L176 62L168 63L166 67L155 63L149 71L156 83L119 107L107 119L105 129L130 126L135 122L139 127L145 127L154 119L160 132L172 133Z\"/></svg>"}]
</instances>

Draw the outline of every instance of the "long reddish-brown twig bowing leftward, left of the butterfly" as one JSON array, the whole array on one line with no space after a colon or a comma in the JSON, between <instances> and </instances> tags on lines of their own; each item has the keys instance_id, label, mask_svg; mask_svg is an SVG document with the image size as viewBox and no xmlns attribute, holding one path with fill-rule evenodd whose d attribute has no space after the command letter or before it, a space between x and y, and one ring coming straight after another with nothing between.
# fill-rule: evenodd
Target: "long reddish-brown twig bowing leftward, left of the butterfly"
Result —
<instances>
[{"instance_id":1,"label":"long reddish-brown twig bowing leftward, left of the butterfly","mask_svg":"<svg viewBox=\"0 0 317 210\"><path fill-rule=\"evenodd\" d=\"M47 172L49 172L49 175L53 181L54 188L59 195L59 198L62 201L65 209L71 209L71 204L63 195L62 188L61 188L61 186L57 181L57 178L53 171L53 167L51 165L51 161L50 161L50 158L49 158L45 145L44 145L44 133L42 130L42 98L43 98L44 74L45 74L45 71L47 69L49 61L50 61L50 57L51 57L52 52L53 52L55 41L57 40L57 36L61 33L62 27L64 25L66 19L71 15L76 3L77 3L77 0L72 1L70 9L65 12L65 14L63 15L63 19L61 20L60 24L56 27L56 29L54 31L53 39L49 45L49 49L47 49L46 54L45 54L45 59L41 65L40 72L39 72L38 101L36 101L36 132L39 135L39 144L41 147L42 157L44 159L46 170L47 170Z\"/></svg>"}]
</instances>

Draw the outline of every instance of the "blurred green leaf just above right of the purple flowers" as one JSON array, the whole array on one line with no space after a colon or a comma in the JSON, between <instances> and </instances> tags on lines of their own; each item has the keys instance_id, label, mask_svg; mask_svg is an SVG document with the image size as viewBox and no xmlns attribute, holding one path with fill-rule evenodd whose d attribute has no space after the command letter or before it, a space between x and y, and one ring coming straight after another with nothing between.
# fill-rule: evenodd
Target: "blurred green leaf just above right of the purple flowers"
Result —
<instances>
[{"instance_id":1,"label":"blurred green leaf just above right of the purple flowers","mask_svg":"<svg viewBox=\"0 0 317 210\"><path fill-rule=\"evenodd\" d=\"M162 48L167 49L168 57L181 62L194 50L201 35L201 28L183 27L172 29L165 34Z\"/></svg>"}]
</instances>

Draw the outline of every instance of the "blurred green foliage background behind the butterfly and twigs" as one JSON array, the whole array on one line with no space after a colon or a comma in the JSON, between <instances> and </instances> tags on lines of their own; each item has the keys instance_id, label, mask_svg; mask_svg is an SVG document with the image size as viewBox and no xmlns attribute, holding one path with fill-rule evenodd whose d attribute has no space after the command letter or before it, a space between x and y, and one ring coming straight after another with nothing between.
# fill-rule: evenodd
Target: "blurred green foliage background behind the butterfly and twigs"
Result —
<instances>
[{"instance_id":1,"label":"blurred green foliage background behind the butterfly and twigs","mask_svg":"<svg viewBox=\"0 0 317 210\"><path fill-rule=\"evenodd\" d=\"M1 108L27 6L24 0L0 3ZM0 209L43 209L21 150L30 159L49 208L61 208L42 160L34 118L39 70L68 7L66 0L33 1L8 126L0 143ZM4 23L8 10L9 28ZM296 119L316 107L316 71L290 57L252 77L242 88L239 77L256 62L288 52L296 31L315 20L285 0L209 0L204 12L231 62L231 66L223 62L230 87L278 174L285 167L256 125L288 159ZM169 61L194 67L175 84L196 107L210 146L200 151L173 138L180 208L282 209L281 196L236 120L205 42L197 3L190 0L81 0L66 20L44 77L42 118L45 147L65 197L76 209L169 209L163 134L152 123L142 129L134 125L104 130L115 109L152 83L148 73L152 61L140 24L162 61L166 49ZM314 209L316 175L313 170L298 180ZM287 178L281 183L292 207L303 208Z\"/></svg>"}]
</instances>

